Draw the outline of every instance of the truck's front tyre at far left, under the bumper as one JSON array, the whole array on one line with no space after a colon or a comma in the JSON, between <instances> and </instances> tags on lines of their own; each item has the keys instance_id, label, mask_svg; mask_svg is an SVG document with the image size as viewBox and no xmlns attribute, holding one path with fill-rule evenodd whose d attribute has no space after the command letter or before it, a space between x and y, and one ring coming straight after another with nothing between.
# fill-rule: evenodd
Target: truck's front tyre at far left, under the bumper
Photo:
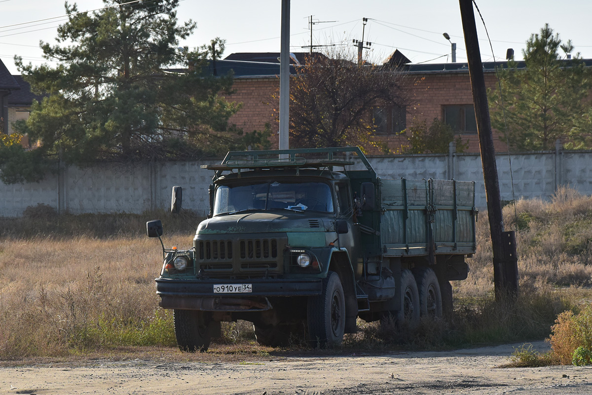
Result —
<instances>
[{"instance_id":1,"label":"truck's front tyre at far left, under the bumper","mask_svg":"<svg viewBox=\"0 0 592 395\"><path fill-rule=\"evenodd\" d=\"M181 351L204 352L210 346L211 317L207 311L173 310L175 336Z\"/></svg>"}]
</instances>

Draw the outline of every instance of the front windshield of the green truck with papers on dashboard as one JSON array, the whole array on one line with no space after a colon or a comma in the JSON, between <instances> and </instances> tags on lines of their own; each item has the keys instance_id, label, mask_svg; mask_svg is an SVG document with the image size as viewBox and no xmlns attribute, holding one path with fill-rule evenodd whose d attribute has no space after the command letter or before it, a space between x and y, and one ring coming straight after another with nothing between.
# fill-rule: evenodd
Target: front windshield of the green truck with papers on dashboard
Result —
<instances>
[{"instance_id":1,"label":"front windshield of the green truck with papers on dashboard","mask_svg":"<svg viewBox=\"0 0 592 395\"><path fill-rule=\"evenodd\" d=\"M214 200L214 215L284 208L333 213L331 189L323 182L269 181L249 185L220 185Z\"/></svg>"}]
</instances>

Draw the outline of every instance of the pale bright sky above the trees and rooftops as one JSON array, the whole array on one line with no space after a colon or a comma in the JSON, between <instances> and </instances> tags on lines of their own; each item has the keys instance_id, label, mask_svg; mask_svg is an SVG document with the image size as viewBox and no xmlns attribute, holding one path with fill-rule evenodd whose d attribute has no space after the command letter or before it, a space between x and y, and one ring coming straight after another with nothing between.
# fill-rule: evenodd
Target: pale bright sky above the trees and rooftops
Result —
<instances>
[{"instance_id":1,"label":"pale bright sky above the trees and rooftops","mask_svg":"<svg viewBox=\"0 0 592 395\"><path fill-rule=\"evenodd\" d=\"M563 41L569 39L574 53L592 58L591 0L476 0L493 45L475 10L481 59L504 60L506 49L522 59L522 49L533 33L548 23ZM104 7L101 0L79 0L79 11ZM561 4L561 5L559 5ZM18 74L14 56L25 63L47 62L39 41L55 43L56 28L65 23L63 0L0 0L0 59L12 74ZM466 63L458 0L350 1L297 0L290 7L291 52L305 52L310 45L310 17L313 45L327 49L354 50L352 40L372 43L365 55L382 62L395 49L412 63L449 63L451 42L456 43L456 62ZM220 37L226 40L227 56L234 52L279 52L281 0L202 1L181 0L178 20L189 19L197 28L181 46L198 47ZM57 18L56 18L57 17ZM363 26L362 18L368 18ZM448 33L451 41L442 36ZM320 49L322 50L322 49ZM49 63L56 65L56 63Z\"/></svg>"}]
</instances>

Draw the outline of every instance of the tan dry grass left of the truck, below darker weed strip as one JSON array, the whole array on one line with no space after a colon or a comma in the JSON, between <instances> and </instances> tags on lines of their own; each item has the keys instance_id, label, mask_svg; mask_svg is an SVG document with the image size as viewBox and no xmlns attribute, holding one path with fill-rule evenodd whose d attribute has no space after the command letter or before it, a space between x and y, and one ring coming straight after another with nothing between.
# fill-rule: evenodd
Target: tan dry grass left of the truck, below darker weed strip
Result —
<instances>
[{"instance_id":1,"label":"tan dry grass left of the truck, below darker weed strip","mask_svg":"<svg viewBox=\"0 0 592 395\"><path fill-rule=\"evenodd\" d=\"M0 358L173 345L153 284L160 254L147 237L3 239Z\"/></svg>"}]
</instances>

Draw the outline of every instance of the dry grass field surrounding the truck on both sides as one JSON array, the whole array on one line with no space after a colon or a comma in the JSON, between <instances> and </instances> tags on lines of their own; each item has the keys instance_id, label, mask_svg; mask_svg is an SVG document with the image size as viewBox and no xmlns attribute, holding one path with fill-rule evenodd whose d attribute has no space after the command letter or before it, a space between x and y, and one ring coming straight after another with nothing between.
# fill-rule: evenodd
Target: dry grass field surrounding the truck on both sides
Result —
<instances>
[{"instance_id":1,"label":"dry grass field surrounding the truck on both sides","mask_svg":"<svg viewBox=\"0 0 592 395\"><path fill-rule=\"evenodd\" d=\"M189 213L191 214L191 213ZM478 251L469 278L453 282L452 317L423 322L413 336L359 322L345 349L450 348L542 339L562 311L590 300L592 200L559 191L550 203L519 201L504 208L517 230L520 298L496 303L487 215L478 221ZM160 217L163 241L187 248L199 219L168 213L56 216L31 207L0 219L0 359L63 357L150 346L175 352L170 311L160 309L154 278L162 265L158 240L144 236ZM248 323L225 323L214 352L255 349ZM297 343L295 348L303 349ZM263 350L263 351L261 351Z\"/></svg>"}]
</instances>

